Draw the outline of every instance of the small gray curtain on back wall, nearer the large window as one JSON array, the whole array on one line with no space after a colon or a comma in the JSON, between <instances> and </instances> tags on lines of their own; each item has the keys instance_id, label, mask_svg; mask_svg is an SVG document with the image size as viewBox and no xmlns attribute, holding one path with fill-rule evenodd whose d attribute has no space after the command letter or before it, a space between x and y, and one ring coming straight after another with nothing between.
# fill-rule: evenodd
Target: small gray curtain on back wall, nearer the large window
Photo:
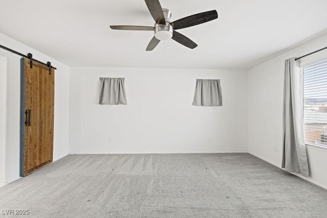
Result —
<instances>
[{"instance_id":1,"label":"small gray curtain on back wall, nearer the large window","mask_svg":"<svg viewBox=\"0 0 327 218\"><path fill-rule=\"evenodd\" d=\"M196 80L193 105L222 106L220 80Z\"/></svg>"}]
</instances>

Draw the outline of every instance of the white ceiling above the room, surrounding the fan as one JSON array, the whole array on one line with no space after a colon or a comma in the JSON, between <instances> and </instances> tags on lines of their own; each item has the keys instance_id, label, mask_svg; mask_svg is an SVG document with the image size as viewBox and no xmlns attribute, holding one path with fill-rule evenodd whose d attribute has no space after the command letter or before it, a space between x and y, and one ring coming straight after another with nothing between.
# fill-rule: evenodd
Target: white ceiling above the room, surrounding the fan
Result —
<instances>
[{"instance_id":1,"label":"white ceiling above the room, surrounding the fan","mask_svg":"<svg viewBox=\"0 0 327 218\"><path fill-rule=\"evenodd\" d=\"M2 0L0 33L71 67L211 69L249 69L327 33L326 0L160 4L172 21L214 9L218 19L178 31L198 44L193 50L170 39L146 52L152 31L109 28L154 26L144 0Z\"/></svg>"}]
</instances>

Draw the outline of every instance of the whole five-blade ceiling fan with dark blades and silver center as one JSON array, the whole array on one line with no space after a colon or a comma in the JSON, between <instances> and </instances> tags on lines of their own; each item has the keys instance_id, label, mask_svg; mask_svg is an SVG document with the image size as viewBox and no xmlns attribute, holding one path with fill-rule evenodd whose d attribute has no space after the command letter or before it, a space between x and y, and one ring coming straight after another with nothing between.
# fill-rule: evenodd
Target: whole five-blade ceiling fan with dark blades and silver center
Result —
<instances>
[{"instance_id":1,"label":"whole five-blade ceiling fan with dark blades and silver center","mask_svg":"<svg viewBox=\"0 0 327 218\"><path fill-rule=\"evenodd\" d=\"M194 49L198 45L188 37L176 32L176 30L192 27L218 18L217 11L213 10L194 14L171 22L170 17L172 16L172 12L169 9L161 8L158 0L145 0L145 3L155 20L154 27L110 26L110 28L113 30L154 31L154 36L149 42L146 51L152 51L161 40L167 40L170 38L190 49Z\"/></svg>"}]
</instances>

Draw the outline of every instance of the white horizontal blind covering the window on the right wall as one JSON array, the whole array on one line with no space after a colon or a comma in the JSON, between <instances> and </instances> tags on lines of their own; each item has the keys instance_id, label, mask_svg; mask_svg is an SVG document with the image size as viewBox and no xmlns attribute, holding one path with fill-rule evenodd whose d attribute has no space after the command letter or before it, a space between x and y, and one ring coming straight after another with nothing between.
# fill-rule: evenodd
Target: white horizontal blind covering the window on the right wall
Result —
<instances>
[{"instance_id":1,"label":"white horizontal blind covering the window on the right wall","mask_svg":"<svg viewBox=\"0 0 327 218\"><path fill-rule=\"evenodd\" d=\"M306 144L327 147L327 60L300 67Z\"/></svg>"}]
</instances>

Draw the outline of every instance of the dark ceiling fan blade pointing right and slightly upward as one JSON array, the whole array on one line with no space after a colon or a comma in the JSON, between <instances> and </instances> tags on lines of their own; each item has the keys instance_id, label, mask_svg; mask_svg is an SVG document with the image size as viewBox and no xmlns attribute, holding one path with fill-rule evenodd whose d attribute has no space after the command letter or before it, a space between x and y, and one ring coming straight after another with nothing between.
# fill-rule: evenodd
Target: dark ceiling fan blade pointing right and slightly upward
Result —
<instances>
[{"instance_id":1,"label":"dark ceiling fan blade pointing right and slightly upward","mask_svg":"<svg viewBox=\"0 0 327 218\"><path fill-rule=\"evenodd\" d=\"M208 22L217 18L218 13L216 10L206 11L199 14L184 17L179 20L175 20L174 22L171 22L170 25L173 27L174 30L178 30L186 27L199 25L201 23Z\"/></svg>"}]
</instances>

